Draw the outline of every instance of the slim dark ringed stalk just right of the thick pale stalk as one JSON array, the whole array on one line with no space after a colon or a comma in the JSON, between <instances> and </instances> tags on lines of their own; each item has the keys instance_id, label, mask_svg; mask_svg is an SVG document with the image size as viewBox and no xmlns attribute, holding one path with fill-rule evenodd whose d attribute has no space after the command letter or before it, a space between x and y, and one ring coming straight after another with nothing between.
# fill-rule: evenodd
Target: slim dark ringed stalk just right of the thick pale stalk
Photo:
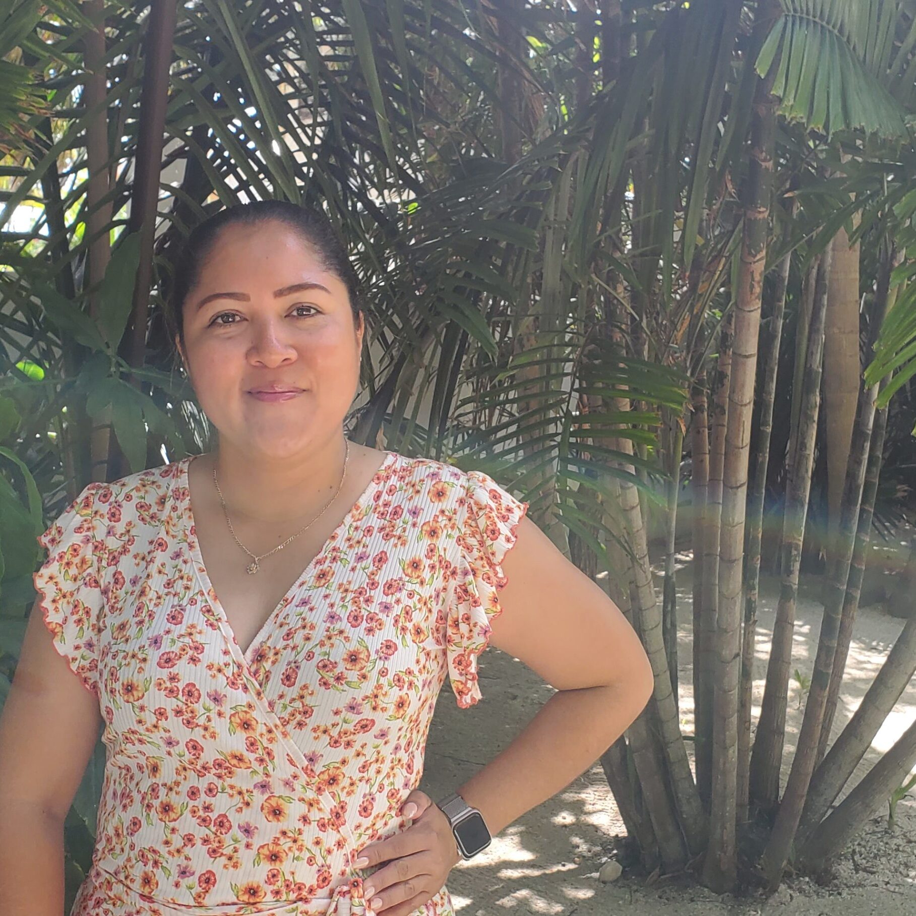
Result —
<instances>
[{"instance_id":1,"label":"slim dark ringed stalk just right of the thick pale stalk","mask_svg":"<svg viewBox=\"0 0 916 916\"><path fill-rule=\"evenodd\" d=\"M794 213L794 210L793 205L791 214ZM760 393L757 463L754 468L754 486L751 490L747 507L747 583L745 583L745 616L741 638L741 679L738 695L737 817L739 822L747 820L748 769L750 766L750 707L754 687L754 655L757 642L760 540L767 493L769 437L773 429L776 372L780 365L782 315L785 311L790 263L791 252L780 260L779 269L774 277L773 306L772 313L769 316L769 333L767 334L767 360L764 365L763 387Z\"/></svg>"}]
</instances>

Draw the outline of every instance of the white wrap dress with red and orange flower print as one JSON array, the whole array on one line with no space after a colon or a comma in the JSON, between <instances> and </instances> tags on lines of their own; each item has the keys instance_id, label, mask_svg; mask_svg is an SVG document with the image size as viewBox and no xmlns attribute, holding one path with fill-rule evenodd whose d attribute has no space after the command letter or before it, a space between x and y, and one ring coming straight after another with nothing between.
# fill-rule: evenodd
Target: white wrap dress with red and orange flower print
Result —
<instances>
[{"instance_id":1,"label":"white wrap dress with red and orange flower print","mask_svg":"<svg viewBox=\"0 0 916 916\"><path fill-rule=\"evenodd\" d=\"M54 647L104 719L71 916L375 916L364 845L406 829L446 676L480 698L528 504L386 453L243 653L203 565L192 457L92 483L38 542ZM417 916L453 916L446 887Z\"/></svg>"}]
</instances>

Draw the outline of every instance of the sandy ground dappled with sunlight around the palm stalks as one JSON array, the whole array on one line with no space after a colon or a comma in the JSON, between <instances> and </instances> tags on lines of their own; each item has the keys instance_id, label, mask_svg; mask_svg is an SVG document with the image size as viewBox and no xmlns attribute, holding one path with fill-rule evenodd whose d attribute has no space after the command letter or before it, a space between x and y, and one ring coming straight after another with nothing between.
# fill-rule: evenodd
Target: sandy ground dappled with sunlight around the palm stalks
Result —
<instances>
[{"instance_id":1,"label":"sandy ground dappled with sunlight around the palm stalks","mask_svg":"<svg viewBox=\"0 0 916 916\"><path fill-rule=\"evenodd\" d=\"M761 589L757 704L763 693L777 588L778 583L765 582ZM802 583L796 616L793 669L798 667L808 676L823 612L817 600L818 588L816 580ZM692 732L689 568L679 573L678 594L680 709L682 728ZM834 736L855 713L902 627L902 620L886 615L879 607L859 611ZM420 789L434 799L454 791L495 757L553 692L524 664L494 647L481 659L481 691L483 700L467 710L457 707L447 683L439 696L420 783ZM787 723L790 749L784 761L783 784L791 766L791 747L802 723L803 707L797 708L799 692L799 684L792 681ZM758 705L754 712L759 712ZM846 791L914 719L916 679L878 733ZM619 912L632 916L916 916L916 800L910 798L898 805L892 834L887 829L886 812L867 825L837 861L831 883L819 886L806 878L789 878L769 899L758 893L744 898L717 896L683 879L662 881L649 888L626 872L615 882L603 884L598 880L598 869L613 856L615 836L624 833L604 773L595 765L565 790L510 824L480 856L454 868L448 886L455 907L462 916L504 912L553 916Z\"/></svg>"}]
</instances>

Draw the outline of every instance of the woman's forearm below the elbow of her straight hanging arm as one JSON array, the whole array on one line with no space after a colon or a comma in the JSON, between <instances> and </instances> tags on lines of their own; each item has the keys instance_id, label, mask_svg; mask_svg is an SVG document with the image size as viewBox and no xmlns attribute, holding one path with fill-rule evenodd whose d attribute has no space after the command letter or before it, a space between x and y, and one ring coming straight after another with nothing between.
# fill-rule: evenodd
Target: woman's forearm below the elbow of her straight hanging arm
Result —
<instances>
[{"instance_id":1,"label":"woman's forearm below the elbow of her straight hanging arm","mask_svg":"<svg viewBox=\"0 0 916 916\"><path fill-rule=\"evenodd\" d=\"M63 823L34 805L0 802L4 916L61 916L63 876Z\"/></svg>"}]
</instances>

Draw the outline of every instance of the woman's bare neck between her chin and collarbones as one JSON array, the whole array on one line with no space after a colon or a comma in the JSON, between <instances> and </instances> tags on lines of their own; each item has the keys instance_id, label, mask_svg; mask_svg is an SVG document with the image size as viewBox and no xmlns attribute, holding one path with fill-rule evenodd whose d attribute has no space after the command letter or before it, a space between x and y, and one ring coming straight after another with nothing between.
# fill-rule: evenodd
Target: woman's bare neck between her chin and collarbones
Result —
<instances>
[{"instance_id":1,"label":"woman's bare neck between her chin and collarbones","mask_svg":"<svg viewBox=\"0 0 916 916\"><path fill-rule=\"evenodd\" d=\"M213 485L213 466L233 522L295 522L320 512L341 485L346 452L344 434L339 431L308 453L278 457L242 452L220 442L207 456L204 470L209 489L220 506ZM353 469L353 446L347 463L347 477ZM341 493L344 493L344 486ZM221 507L222 511L222 507Z\"/></svg>"}]
</instances>

